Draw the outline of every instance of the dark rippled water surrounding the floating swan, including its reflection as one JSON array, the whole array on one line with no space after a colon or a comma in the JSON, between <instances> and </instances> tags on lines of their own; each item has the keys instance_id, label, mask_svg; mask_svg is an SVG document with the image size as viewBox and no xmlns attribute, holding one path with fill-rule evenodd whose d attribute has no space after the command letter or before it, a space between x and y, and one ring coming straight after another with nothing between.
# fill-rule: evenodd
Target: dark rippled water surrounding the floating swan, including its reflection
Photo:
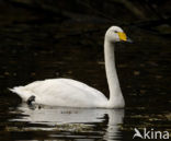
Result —
<instances>
[{"instance_id":1,"label":"dark rippled water surrounding the floating swan, including its reflection","mask_svg":"<svg viewBox=\"0 0 171 141\"><path fill-rule=\"evenodd\" d=\"M134 128L171 132L170 35L123 26L134 40L115 51L125 109L31 109L8 87L71 78L109 96L103 36L112 24L30 17L0 25L0 140L128 141Z\"/></svg>"}]
</instances>

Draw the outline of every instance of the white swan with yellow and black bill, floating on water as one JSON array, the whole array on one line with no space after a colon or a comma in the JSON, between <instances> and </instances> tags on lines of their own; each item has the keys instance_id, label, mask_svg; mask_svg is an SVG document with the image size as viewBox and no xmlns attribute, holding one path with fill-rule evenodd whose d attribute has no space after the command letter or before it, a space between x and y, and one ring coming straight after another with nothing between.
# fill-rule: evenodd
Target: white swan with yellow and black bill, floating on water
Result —
<instances>
[{"instance_id":1,"label":"white swan with yellow and black bill, floating on water","mask_svg":"<svg viewBox=\"0 0 171 141\"><path fill-rule=\"evenodd\" d=\"M104 59L110 99L100 91L70 79L35 81L25 86L15 86L11 91L25 102L35 97L36 104L49 106L123 108L125 102L114 62L114 43L116 42L128 42L128 38L121 27L112 26L106 31L104 38Z\"/></svg>"}]
</instances>

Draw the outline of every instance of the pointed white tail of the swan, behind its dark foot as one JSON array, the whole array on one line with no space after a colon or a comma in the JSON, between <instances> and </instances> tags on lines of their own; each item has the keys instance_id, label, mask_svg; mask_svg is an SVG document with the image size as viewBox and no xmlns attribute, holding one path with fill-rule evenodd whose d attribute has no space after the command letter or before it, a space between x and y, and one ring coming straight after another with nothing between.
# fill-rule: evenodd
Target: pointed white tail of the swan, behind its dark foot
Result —
<instances>
[{"instance_id":1,"label":"pointed white tail of the swan, behind its dark foot","mask_svg":"<svg viewBox=\"0 0 171 141\"><path fill-rule=\"evenodd\" d=\"M32 95L34 95L31 91L27 91L24 86L15 86L13 89L9 89L11 92L18 94L24 102L29 99Z\"/></svg>"}]
</instances>

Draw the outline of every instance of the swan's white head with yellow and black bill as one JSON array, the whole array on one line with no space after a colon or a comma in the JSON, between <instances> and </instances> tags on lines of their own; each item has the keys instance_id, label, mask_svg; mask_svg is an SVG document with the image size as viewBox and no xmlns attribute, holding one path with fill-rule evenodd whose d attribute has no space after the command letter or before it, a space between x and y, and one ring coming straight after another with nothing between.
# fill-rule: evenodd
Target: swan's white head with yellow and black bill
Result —
<instances>
[{"instance_id":1,"label":"swan's white head with yellow and black bill","mask_svg":"<svg viewBox=\"0 0 171 141\"><path fill-rule=\"evenodd\" d=\"M110 43L130 42L124 31L118 26L111 26L105 33L105 39Z\"/></svg>"}]
</instances>

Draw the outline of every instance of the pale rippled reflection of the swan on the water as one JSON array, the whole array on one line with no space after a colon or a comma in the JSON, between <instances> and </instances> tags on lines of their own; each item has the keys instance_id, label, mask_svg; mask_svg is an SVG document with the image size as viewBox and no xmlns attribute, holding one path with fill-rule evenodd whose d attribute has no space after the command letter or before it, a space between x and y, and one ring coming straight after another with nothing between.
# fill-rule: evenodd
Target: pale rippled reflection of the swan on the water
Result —
<instances>
[{"instance_id":1,"label":"pale rippled reflection of the swan on the water","mask_svg":"<svg viewBox=\"0 0 171 141\"><path fill-rule=\"evenodd\" d=\"M27 121L30 124L46 125L50 128L36 127L41 130L56 130L56 131L73 131L73 132L93 132L93 128L103 124L105 127L103 136L104 140L114 140L121 138L118 131L118 124L123 124L124 109L89 109L89 108L70 108L70 107L43 107L31 109L26 104L18 107L22 113L21 117L12 119L11 121ZM105 120L109 119L105 125ZM33 127L30 127L32 130ZM34 127L34 130L36 129ZM64 134L50 134L52 137L61 137ZM81 137L83 138L83 137ZM87 139L87 137L84 137Z\"/></svg>"}]
</instances>

